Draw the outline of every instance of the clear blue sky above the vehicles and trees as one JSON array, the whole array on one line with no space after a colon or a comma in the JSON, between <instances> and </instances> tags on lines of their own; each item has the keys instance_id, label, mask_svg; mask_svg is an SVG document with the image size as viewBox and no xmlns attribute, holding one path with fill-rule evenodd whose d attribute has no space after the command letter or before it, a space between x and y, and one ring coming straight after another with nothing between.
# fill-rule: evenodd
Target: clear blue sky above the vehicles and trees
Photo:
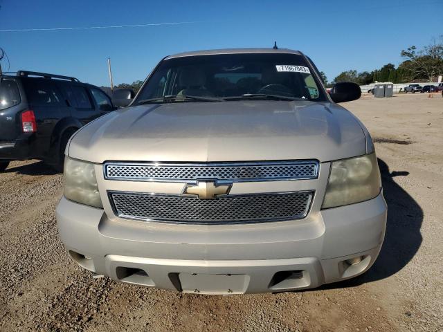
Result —
<instances>
[{"instance_id":1,"label":"clear blue sky above the vehicles and trees","mask_svg":"<svg viewBox=\"0 0 443 332\"><path fill-rule=\"evenodd\" d=\"M0 0L0 30L120 26L137 28L0 32L10 71L73 75L109 85L144 80L165 55L186 50L271 47L302 50L329 80L348 69L401 62L400 51L443 34L443 0L372 1L30 1ZM3 71L8 69L6 59Z\"/></svg>"}]
</instances>

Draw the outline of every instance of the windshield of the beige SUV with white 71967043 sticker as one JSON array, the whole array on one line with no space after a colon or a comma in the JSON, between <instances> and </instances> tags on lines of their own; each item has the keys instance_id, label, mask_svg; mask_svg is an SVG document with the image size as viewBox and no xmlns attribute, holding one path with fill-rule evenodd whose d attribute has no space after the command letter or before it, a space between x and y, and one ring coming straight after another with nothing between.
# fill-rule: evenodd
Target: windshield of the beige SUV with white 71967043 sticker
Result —
<instances>
[{"instance_id":1,"label":"windshield of the beige SUV with white 71967043 sticker","mask_svg":"<svg viewBox=\"0 0 443 332\"><path fill-rule=\"evenodd\" d=\"M197 55L163 61L134 105L165 96L226 98L273 95L326 101L304 57L284 53ZM231 97L231 98L230 98ZM257 96L255 96L257 97ZM192 101L204 101L194 98Z\"/></svg>"}]
</instances>

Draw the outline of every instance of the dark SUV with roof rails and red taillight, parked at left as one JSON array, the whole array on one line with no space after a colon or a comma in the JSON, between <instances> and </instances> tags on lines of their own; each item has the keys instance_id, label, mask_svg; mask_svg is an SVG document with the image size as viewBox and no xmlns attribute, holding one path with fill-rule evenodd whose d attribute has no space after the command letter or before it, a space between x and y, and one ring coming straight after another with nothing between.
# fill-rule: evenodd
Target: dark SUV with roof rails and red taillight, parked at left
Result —
<instances>
[{"instance_id":1,"label":"dark SUV with roof rails and red taillight, parked at left","mask_svg":"<svg viewBox=\"0 0 443 332\"><path fill-rule=\"evenodd\" d=\"M61 171L69 138L113 111L108 95L75 77L18 71L0 78L0 172L36 158Z\"/></svg>"}]
</instances>

